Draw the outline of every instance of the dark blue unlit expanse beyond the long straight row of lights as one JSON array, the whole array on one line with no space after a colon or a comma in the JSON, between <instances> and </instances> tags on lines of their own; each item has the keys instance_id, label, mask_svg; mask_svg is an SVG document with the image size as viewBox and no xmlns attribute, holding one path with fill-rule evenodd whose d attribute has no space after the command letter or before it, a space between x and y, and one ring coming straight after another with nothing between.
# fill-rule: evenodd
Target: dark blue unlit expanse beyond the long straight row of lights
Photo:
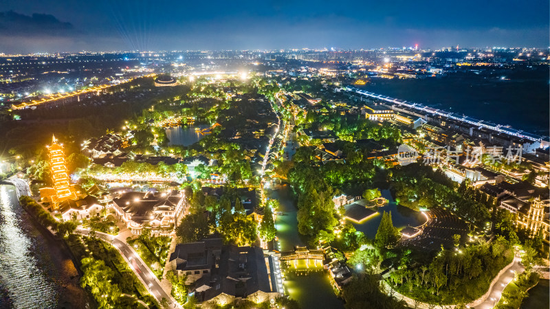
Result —
<instances>
[{"instance_id":1,"label":"dark blue unlit expanse beyond the long straight row of lights","mask_svg":"<svg viewBox=\"0 0 550 309\"><path fill-rule=\"evenodd\" d=\"M547 68L534 75L530 72L518 80L503 81L484 77L487 76L447 76L426 80L379 79L358 88L476 119L509 124L532 133L548 134ZM535 112L525 114L525 117L514 117L509 111L517 108L518 102L522 102L525 110Z\"/></svg>"}]
</instances>

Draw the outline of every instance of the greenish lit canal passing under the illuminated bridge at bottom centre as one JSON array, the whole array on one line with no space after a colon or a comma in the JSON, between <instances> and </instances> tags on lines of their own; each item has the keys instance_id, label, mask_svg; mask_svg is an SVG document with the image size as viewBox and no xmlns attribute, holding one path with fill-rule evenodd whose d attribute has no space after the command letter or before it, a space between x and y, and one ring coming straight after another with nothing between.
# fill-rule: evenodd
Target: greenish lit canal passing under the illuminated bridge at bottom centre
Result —
<instances>
[{"instance_id":1,"label":"greenish lit canal passing under the illuminated bridge at bottom centre","mask_svg":"<svg viewBox=\"0 0 550 309\"><path fill-rule=\"evenodd\" d=\"M280 189L271 193L281 203L279 211L283 215L277 216L277 236L281 244L281 251L294 250L294 246L306 246L305 238L298 233L298 208L292 196L289 185L283 184ZM290 266L285 278L286 293L296 299L301 308L344 308L344 303L336 297L330 284L328 274L322 266L309 266L305 261L298 262L297 268Z\"/></svg>"}]
</instances>

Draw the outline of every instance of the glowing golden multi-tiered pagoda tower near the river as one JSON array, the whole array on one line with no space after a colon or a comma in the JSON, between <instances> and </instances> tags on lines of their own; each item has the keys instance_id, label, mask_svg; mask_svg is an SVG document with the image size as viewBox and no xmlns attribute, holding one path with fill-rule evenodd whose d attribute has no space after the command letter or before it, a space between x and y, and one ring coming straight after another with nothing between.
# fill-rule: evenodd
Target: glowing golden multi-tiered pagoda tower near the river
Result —
<instances>
[{"instance_id":1,"label":"glowing golden multi-tiered pagoda tower near the river","mask_svg":"<svg viewBox=\"0 0 550 309\"><path fill-rule=\"evenodd\" d=\"M50 170L52 171L52 182L56 195L52 196L54 209L59 203L67 200L76 200L76 193L71 187L67 166L65 165L65 153L63 145L58 143L55 135L52 138L52 145L47 146L50 152Z\"/></svg>"}]
</instances>

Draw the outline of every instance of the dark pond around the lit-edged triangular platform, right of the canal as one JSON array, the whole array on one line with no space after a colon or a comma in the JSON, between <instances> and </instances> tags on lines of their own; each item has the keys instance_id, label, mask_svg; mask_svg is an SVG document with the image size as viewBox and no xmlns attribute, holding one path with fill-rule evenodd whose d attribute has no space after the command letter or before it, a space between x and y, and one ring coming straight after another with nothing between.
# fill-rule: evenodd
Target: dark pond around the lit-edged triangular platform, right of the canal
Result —
<instances>
[{"instance_id":1,"label":"dark pond around the lit-edged triangular platform, right of the canal","mask_svg":"<svg viewBox=\"0 0 550 309\"><path fill-rule=\"evenodd\" d=\"M377 214L360 224L352 222L355 229L362 231L368 238L375 238L376 231L378 230L378 225L380 225L382 213L384 211L391 211L393 225L399 230L407 227L407 225L417 227L426 222L426 217L424 217L420 211L414 211L410 208L397 205L391 196L390 190L382 190L381 193L382 197L386 198L389 203L384 204L382 207L377 207L377 209L373 208L373 210L377 210L380 214Z\"/></svg>"}]
</instances>

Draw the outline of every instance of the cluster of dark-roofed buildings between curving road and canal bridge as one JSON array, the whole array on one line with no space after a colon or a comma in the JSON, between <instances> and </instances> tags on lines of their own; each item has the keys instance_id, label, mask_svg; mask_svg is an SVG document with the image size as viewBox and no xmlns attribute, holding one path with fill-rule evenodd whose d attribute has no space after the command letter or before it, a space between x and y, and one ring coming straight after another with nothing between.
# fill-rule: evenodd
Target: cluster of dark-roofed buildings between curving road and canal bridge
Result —
<instances>
[{"instance_id":1,"label":"cluster of dark-roofed buildings between curving road and canal bridge","mask_svg":"<svg viewBox=\"0 0 550 309\"><path fill-rule=\"evenodd\" d=\"M186 275L197 301L220 303L250 297L265 301L281 295L270 259L272 255L264 255L259 247L236 247L223 244L221 238L207 238L178 244L169 261L177 275Z\"/></svg>"}]
</instances>

